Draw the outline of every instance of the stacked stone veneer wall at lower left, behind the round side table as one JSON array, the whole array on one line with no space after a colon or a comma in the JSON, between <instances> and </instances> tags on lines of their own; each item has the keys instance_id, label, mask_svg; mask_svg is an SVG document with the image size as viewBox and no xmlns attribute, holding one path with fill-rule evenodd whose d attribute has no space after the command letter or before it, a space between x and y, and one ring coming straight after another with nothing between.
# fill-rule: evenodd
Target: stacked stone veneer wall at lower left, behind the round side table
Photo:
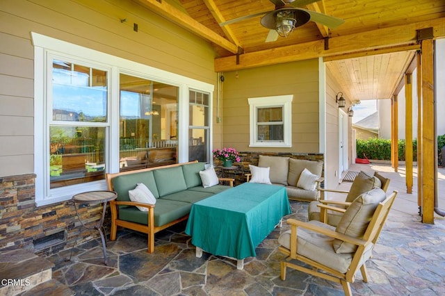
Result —
<instances>
[{"instance_id":1,"label":"stacked stone veneer wall at lower left, behind the round side table","mask_svg":"<svg viewBox=\"0 0 445 296\"><path fill-rule=\"evenodd\" d=\"M104 223L107 233L111 224L109 212L107 208ZM99 221L101 214L102 204L79 209L79 216L88 226ZM35 240L55 233L59 239L44 242L35 249ZM48 255L97 237L98 231L81 225L71 201L35 206L35 174L0 177L0 251L24 248Z\"/></svg>"}]
</instances>

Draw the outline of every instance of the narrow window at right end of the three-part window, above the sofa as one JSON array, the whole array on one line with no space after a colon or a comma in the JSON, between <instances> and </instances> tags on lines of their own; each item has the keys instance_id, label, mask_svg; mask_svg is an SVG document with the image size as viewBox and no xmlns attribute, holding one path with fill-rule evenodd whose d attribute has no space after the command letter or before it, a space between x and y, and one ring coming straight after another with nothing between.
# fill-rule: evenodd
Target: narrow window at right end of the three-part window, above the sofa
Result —
<instances>
[{"instance_id":1,"label":"narrow window at right end of the three-part window, above the sofa","mask_svg":"<svg viewBox=\"0 0 445 296\"><path fill-rule=\"evenodd\" d=\"M190 90L188 94L188 160L209 162L210 94Z\"/></svg>"}]
</instances>

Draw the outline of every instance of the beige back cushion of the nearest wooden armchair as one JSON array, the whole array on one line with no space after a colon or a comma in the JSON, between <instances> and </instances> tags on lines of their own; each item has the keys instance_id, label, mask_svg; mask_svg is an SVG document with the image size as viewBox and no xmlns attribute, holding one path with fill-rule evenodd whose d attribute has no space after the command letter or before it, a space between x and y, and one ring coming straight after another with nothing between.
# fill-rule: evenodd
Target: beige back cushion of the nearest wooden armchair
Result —
<instances>
[{"instance_id":1,"label":"beige back cushion of the nearest wooden armchair","mask_svg":"<svg viewBox=\"0 0 445 296\"><path fill-rule=\"evenodd\" d=\"M383 202L386 197L385 192L380 188L374 188L369 192L359 195L359 197L348 206L335 231L352 236L353 238L363 238L366 228L373 217L375 208L377 208L378 204ZM353 253L357 249L356 245L343 242L343 240L334 240L333 246L337 254Z\"/></svg>"}]
</instances>

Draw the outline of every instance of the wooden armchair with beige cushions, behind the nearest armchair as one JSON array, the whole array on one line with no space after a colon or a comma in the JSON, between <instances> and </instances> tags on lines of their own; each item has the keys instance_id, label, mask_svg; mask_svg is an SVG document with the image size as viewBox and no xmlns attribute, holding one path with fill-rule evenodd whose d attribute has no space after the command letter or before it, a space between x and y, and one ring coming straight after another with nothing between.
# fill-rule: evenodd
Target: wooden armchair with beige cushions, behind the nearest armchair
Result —
<instances>
[{"instance_id":1,"label":"wooden armchair with beige cushions, behind the nearest armchair","mask_svg":"<svg viewBox=\"0 0 445 296\"><path fill-rule=\"evenodd\" d=\"M318 202L311 202L307 208L309 221L318 220L336 227L346 208L356 197L373 188L381 188L384 192L387 192L390 181L378 172L374 172L373 176L360 172L355 177L349 191L318 188L322 193L321 197L323 197L323 192L336 192L345 194L346 200L342 202L320 199Z\"/></svg>"}]
</instances>

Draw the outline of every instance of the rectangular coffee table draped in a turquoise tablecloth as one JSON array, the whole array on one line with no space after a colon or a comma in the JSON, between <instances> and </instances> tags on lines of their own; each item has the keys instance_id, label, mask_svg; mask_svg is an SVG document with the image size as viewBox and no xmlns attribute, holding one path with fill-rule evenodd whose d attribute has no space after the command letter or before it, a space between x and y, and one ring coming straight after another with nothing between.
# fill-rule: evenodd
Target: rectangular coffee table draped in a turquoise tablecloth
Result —
<instances>
[{"instance_id":1,"label":"rectangular coffee table draped in a turquoise tablecloth","mask_svg":"<svg viewBox=\"0 0 445 296\"><path fill-rule=\"evenodd\" d=\"M186 234L192 237L196 256L202 250L238 260L256 256L255 248L291 213L286 188L243 183L193 204Z\"/></svg>"}]
</instances>

